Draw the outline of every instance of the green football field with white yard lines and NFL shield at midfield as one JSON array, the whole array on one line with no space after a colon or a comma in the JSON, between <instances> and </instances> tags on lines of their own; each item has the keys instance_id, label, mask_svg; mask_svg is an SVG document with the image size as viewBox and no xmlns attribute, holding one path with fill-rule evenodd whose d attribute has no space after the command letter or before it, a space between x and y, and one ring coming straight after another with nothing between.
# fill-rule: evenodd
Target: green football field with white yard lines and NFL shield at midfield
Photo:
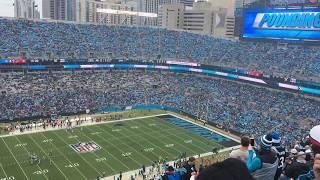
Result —
<instances>
[{"instance_id":1,"label":"green football field with white yard lines and NFL shield at midfield","mask_svg":"<svg viewBox=\"0 0 320 180\"><path fill-rule=\"evenodd\" d=\"M183 152L191 156L225 147L160 117L0 139L0 180L95 179L149 166L160 157L175 160ZM93 143L96 150L78 152L71 147L81 142ZM32 165L30 153L40 163Z\"/></svg>"}]
</instances>

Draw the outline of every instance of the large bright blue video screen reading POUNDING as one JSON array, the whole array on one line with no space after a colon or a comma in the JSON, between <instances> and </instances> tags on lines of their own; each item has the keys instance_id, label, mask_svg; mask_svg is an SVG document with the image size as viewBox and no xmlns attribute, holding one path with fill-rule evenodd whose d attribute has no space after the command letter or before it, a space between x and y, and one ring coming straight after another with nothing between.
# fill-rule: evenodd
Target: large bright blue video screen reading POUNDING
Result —
<instances>
[{"instance_id":1,"label":"large bright blue video screen reading POUNDING","mask_svg":"<svg viewBox=\"0 0 320 180\"><path fill-rule=\"evenodd\" d=\"M320 9L248 9L243 39L320 41Z\"/></svg>"}]
</instances>

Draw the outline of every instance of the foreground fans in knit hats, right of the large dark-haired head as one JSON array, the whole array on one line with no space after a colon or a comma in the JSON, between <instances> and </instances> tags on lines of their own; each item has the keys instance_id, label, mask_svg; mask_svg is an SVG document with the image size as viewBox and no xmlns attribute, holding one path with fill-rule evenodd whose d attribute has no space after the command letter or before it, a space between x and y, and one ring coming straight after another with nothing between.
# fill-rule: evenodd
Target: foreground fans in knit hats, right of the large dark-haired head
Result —
<instances>
[{"instance_id":1,"label":"foreground fans in knit hats, right of the large dark-haired head","mask_svg":"<svg viewBox=\"0 0 320 180\"><path fill-rule=\"evenodd\" d=\"M230 153L230 158L246 164L247 170L241 173L249 172L257 180L319 179L320 125L313 127L307 139L297 142L291 150L285 149L278 132L263 135L258 146L253 139L243 136L240 149Z\"/></svg>"}]
</instances>

